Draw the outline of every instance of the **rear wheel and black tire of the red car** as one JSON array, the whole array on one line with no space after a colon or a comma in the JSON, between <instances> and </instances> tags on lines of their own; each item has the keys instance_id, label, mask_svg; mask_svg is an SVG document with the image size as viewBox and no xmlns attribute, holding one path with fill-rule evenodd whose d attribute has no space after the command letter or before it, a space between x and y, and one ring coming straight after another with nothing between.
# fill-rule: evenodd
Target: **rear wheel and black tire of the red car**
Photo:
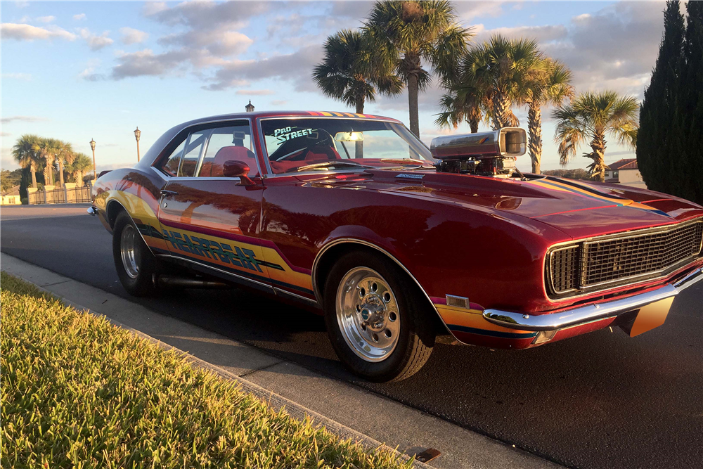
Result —
<instances>
[{"instance_id":1,"label":"rear wheel and black tire of the red car","mask_svg":"<svg viewBox=\"0 0 703 469\"><path fill-rule=\"evenodd\" d=\"M153 275L156 273L156 259L127 212L117 215L112 227L112 257L117 276L130 295L155 293Z\"/></svg>"}]
</instances>

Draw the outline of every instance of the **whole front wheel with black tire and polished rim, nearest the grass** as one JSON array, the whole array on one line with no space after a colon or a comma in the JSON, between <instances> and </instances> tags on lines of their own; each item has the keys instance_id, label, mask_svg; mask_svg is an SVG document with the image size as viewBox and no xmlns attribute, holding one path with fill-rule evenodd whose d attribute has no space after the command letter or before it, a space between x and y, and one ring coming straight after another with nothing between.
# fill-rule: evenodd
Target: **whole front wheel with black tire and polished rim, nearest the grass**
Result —
<instances>
[{"instance_id":1,"label":"whole front wheel with black tire and polished rim, nearest the grass","mask_svg":"<svg viewBox=\"0 0 703 469\"><path fill-rule=\"evenodd\" d=\"M342 363L370 381L399 381L430 358L435 330L426 301L393 262L366 250L343 255L325 281L330 341Z\"/></svg>"}]
</instances>

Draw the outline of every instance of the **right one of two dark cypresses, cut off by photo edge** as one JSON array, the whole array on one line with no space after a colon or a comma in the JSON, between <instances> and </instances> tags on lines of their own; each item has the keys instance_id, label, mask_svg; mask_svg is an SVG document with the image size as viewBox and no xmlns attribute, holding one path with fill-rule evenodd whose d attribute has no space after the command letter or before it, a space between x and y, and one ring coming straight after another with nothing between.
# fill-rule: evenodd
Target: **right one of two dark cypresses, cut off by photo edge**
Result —
<instances>
[{"instance_id":1,"label":"right one of two dark cypresses, cut off by photo edge","mask_svg":"<svg viewBox=\"0 0 703 469\"><path fill-rule=\"evenodd\" d=\"M680 195L703 205L703 2L686 4L688 23L683 46L685 65L681 74L683 165L679 171Z\"/></svg>"}]
</instances>

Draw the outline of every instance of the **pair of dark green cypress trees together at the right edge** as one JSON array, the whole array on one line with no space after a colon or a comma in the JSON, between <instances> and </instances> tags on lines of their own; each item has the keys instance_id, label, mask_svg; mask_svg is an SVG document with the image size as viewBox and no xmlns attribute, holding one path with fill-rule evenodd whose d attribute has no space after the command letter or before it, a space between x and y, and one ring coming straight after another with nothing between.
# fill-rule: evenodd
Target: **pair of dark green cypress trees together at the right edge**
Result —
<instances>
[{"instance_id":1,"label":"pair of dark green cypress trees together at the right edge","mask_svg":"<svg viewBox=\"0 0 703 469\"><path fill-rule=\"evenodd\" d=\"M703 204L703 2L664 11L664 37L640 111L637 163L647 187Z\"/></svg>"}]
</instances>

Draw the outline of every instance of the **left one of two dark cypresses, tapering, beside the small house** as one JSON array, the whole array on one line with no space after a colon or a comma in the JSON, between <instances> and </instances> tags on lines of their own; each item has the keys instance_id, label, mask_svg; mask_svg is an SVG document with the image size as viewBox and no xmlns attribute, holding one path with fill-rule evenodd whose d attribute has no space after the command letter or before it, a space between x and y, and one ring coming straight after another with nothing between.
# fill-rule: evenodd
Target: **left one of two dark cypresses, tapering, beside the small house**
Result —
<instances>
[{"instance_id":1,"label":"left one of two dark cypresses, tapering, beside the small house","mask_svg":"<svg viewBox=\"0 0 703 469\"><path fill-rule=\"evenodd\" d=\"M640 108L637 136L637 162L647 187L675 193L681 171L681 129L678 123L681 103L681 74L684 65L685 26L678 0L667 1L664 11L664 37ZM678 168L678 171L677 171Z\"/></svg>"}]
</instances>

